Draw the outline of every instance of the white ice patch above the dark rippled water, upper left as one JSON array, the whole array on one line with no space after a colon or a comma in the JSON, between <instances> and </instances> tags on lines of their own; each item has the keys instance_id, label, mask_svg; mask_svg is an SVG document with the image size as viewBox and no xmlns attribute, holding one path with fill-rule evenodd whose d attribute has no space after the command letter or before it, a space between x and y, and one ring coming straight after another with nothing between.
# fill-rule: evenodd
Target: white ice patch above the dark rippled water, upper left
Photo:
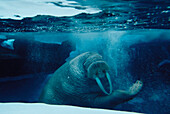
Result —
<instances>
[{"instance_id":1,"label":"white ice patch above the dark rippled water, upper left","mask_svg":"<svg viewBox=\"0 0 170 114\"><path fill-rule=\"evenodd\" d=\"M0 18L1 19L23 19L25 17L34 17L36 15L51 16L74 16L80 13L97 13L97 8L86 7L85 10L78 10L70 7L59 7L52 3L60 0L0 0ZM63 4L69 4L71 1L62 0ZM19 15L17 17L15 15Z\"/></svg>"}]
</instances>

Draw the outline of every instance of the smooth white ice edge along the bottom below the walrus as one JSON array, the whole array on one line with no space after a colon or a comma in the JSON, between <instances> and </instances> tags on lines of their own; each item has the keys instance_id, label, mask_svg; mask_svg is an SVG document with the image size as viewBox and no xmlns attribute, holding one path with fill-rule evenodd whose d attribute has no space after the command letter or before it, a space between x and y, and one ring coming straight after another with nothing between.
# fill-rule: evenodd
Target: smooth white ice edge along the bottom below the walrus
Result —
<instances>
[{"instance_id":1,"label":"smooth white ice edge along the bottom below the walrus","mask_svg":"<svg viewBox=\"0 0 170 114\"><path fill-rule=\"evenodd\" d=\"M139 114L135 112L42 103L0 103L0 112L1 114Z\"/></svg>"}]
</instances>

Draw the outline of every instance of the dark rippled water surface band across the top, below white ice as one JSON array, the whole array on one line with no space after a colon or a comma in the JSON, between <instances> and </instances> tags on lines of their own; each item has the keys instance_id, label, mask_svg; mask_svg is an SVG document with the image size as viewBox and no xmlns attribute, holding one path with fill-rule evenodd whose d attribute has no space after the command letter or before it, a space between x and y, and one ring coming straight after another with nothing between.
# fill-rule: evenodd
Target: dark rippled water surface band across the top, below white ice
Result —
<instances>
[{"instance_id":1,"label":"dark rippled water surface band across the top, below white ice","mask_svg":"<svg viewBox=\"0 0 170 114\"><path fill-rule=\"evenodd\" d=\"M23 0L24 1L24 0ZM68 0L69 1L69 0ZM64 1L44 2L56 7L81 11L77 15L55 17L37 13L35 17L11 20L2 16L1 32L98 32L106 30L169 29L169 0L75 0L77 3L64 5ZM15 2L14 2L15 3ZM27 4L27 3L25 3ZM24 5L24 4L22 4ZM41 5L41 4L40 4ZM27 8L27 5L25 6ZM89 8L90 7L90 8ZM8 9L8 7L7 7ZM84 10L83 10L84 9ZM88 13L91 9L97 10ZM24 10L24 9L20 9ZM31 10L31 9L30 9ZM62 12L62 9L59 9ZM87 10L87 11L86 11ZM2 10L3 11L3 10ZM8 10L7 10L8 11ZM4 12L7 12L4 10ZM14 9L15 11L15 9ZM47 10L48 11L48 10ZM69 11L69 10L68 10ZM70 9L70 13L71 13ZM77 11L77 12L78 12ZM89 12L90 12L89 11ZM36 12L36 10L35 10ZM87 12L87 13L83 13ZM13 15L19 15L14 12ZM27 13L27 12L26 12ZM32 12L29 12L31 14ZM64 11L63 11L64 13ZM19 16L20 17L20 16ZM11 17L12 18L12 17Z\"/></svg>"}]
</instances>

